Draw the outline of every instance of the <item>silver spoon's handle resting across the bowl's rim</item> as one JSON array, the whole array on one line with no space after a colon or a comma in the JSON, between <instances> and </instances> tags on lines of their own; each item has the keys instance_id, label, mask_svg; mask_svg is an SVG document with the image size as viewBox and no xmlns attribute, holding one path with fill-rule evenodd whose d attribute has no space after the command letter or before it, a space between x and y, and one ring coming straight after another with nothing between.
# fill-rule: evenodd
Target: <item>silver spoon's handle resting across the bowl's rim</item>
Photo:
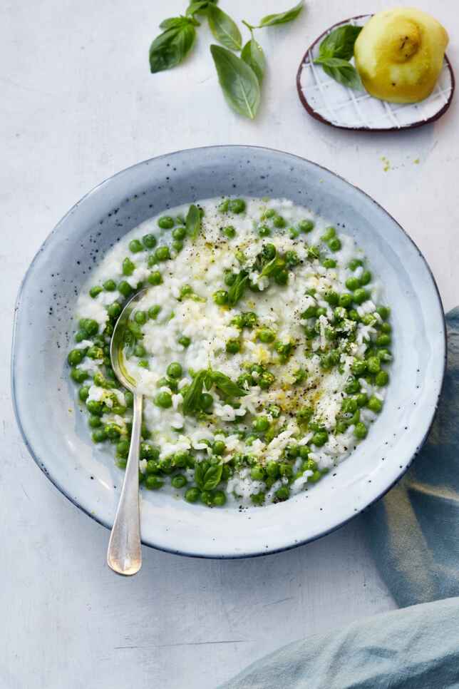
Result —
<instances>
[{"instance_id":1,"label":"silver spoon's handle resting across the bowl's rim","mask_svg":"<svg viewBox=\"0 0 459 689\"><path fill-rule=\"evenodd\" d=\"M130 576L142 566L139 509L139 453L143 397L134 395L133 432L123 489L108 542L107 563L114 572Z\"/></svg>"}]
</instances>

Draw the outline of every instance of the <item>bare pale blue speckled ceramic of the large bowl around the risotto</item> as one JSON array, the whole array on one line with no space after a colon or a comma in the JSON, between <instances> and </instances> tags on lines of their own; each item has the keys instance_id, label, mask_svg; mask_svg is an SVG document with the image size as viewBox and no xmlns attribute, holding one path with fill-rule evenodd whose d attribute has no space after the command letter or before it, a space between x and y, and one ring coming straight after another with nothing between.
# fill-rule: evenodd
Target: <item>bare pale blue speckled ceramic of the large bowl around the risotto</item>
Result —
<instances>
[{"instance_id":1,"label":"bare pale blue speckled ceramic of the large bowl around the risotto","mask_svg":"<svg viewBox=\"0 0 459 689\"><path fill-rule=\"evenodd\" d=\"M381 206L329 170L294 155L220 146L145 160L88 193L53 230L19 292L12 374L24 440L49 479L110 527L123 472L91 442L68 382L66 354L78 290L110 245L151 215L218 195L287 197L354 235L393 307L391 384L354 454L288 501L239 512L142 491L143 542L202 557L246 557L329 533L381 497L423 444L440 394L445 325L438 290L416 245ZM56 524L58 528L58 524Z\"/></svg>"}]
</instances>

